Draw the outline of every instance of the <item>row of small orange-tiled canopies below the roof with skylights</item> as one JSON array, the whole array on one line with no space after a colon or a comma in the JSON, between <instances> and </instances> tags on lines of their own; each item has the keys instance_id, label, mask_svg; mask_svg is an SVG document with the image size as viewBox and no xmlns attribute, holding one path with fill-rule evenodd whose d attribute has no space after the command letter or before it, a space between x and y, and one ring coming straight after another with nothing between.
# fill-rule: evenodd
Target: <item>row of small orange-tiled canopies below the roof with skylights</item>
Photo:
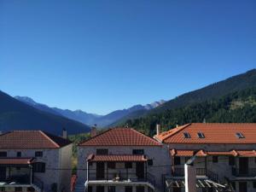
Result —
<instances>
[{"instance_id":1,"label":"row of small orange-tiled canopies below the roof with skylights","mask_svg":"<svg viewBox=\"0 0 256 192\"><path fill-rule=\"evenodd\" d=\"M172 148L170 150L170 154L172 156L188 156L191 157L194 154L194 150L176 150L175 148ZM225 156L241 156L241 157L256 157L256 151L255 150L231 150L231 151L203 151L200 150L197 152L196 156L203 157L207 155L225 155Z\"/></svg>"}]
</instances>

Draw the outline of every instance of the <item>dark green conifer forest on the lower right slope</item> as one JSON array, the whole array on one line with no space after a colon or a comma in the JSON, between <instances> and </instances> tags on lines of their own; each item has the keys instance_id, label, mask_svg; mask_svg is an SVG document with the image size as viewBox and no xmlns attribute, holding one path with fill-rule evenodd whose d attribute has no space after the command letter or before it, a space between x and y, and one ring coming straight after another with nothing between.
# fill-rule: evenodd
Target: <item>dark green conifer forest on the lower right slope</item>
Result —
<instances>
[{"instance_id":1,"label":"dark green conifer forest on the lower right slope","mask_svg":"<svg viewBox=\"0 0 256 192\"><path fill-rule=\"evenodd\" d=\"M237 102L240 104L234 108L234 103ZM218 99L167 109L162 113L150 113L137 119L128 119L124 125L128 124L148 136L154 136L156 124L170 129L176 125L203 122L204 119L208 123L255 123L255 103L256 88L239 90Z\"/></svg>"}]
</instances>

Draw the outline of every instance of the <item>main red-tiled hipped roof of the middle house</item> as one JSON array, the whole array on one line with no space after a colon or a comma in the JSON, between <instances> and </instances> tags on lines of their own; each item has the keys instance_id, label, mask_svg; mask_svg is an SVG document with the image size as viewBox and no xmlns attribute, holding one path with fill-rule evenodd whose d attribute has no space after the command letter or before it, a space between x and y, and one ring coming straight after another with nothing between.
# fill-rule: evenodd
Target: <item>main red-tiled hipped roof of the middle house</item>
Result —
<instances>
[{"instance_id":1,"label":"main red-tiled hipped roof of the middle house","mask_svg":"<svg viewBox=\"0 0 256 192\"><path fill-rule=\"evenodd\" d=\"M162 146L153 138L131 128L113 128L91 137L79 146Z\"/></svg>"}]
</instances>

